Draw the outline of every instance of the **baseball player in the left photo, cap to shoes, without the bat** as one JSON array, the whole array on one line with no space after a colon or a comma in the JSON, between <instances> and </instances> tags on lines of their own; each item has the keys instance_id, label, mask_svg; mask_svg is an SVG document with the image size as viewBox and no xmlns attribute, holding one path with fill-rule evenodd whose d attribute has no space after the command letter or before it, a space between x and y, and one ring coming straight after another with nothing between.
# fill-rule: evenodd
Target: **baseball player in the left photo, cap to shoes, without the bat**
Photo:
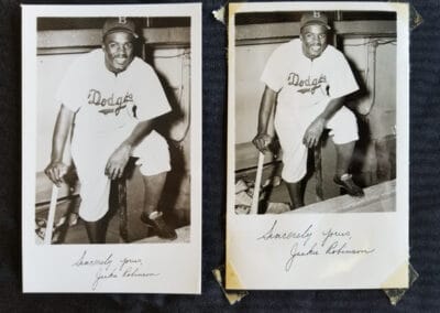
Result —
<instances>
[{"instance_id":1,"label":"baseball player in the left photo, cap to shoes, without the bat","mask_svg":"<svg viewBox=\"0 0 440 313\"><path fill-rule=\"evenodd\" d=\"M63 151L73 129L70 150L81 185L79 216L92 244L106 240L110 182L122 176L130 156L139 158L144 179L140 218L160 237L177 237L157 211L170 164L167 142L153 129L154 119L170 107L154 69L134 56L135 39L132 20L108 19L101 48L72 64L56 93L61 108L45 173L59 186L67 171Z\"/></svg>"}]
</instances>

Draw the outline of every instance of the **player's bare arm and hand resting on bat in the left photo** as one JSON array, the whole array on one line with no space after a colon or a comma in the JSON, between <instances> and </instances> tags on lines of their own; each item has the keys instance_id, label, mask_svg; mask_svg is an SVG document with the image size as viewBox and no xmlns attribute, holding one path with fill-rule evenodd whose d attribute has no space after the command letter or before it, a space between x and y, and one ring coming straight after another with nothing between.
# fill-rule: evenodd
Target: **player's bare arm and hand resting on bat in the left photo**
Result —
<instances>
[{"instance_id":1,"label":"player's bare arm and hand resting on bat in the left photo","mask_svg":"<svg viewBox=\"0 0 440 313\"><path fill-rule=\"evenodd\" d=\"M67 172L67 165L63 163L63 153L74 116L74 111L64 105L61 106L52 138L51 163L44 170L47 177L58 187L61 186L63 176Z\"/></svg>"}]
</instances>

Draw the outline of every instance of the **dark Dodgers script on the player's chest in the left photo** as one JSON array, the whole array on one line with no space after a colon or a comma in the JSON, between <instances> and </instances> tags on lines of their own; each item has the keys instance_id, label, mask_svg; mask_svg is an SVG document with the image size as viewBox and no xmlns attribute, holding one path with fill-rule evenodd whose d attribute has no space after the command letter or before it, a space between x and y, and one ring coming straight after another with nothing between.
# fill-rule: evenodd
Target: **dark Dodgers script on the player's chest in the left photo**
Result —
<instances>
[{"instance_id":1,"label":"dark Dodgers script on the player's chest in the left photo","mask_svg":"<svg viewBox=\"0 0 440 313\"><path fill-rule=\"evenodd\" d=\"M111 94L111 96L107 97L100 90L90 89L87 98L89 105L103 107L98 110L100 114L114 114L118 116L122 109L127 108L129 102L133 101L133 94L125 93L125 95L117 97Z\"/></svg>"}]
</instances>

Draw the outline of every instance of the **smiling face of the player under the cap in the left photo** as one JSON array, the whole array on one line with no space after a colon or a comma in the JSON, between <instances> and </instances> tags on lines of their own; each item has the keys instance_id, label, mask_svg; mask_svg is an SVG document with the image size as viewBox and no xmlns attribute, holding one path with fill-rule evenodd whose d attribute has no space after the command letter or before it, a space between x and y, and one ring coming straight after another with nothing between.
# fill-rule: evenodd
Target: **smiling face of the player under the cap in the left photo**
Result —
<instances>
[{"instance_id":1,"label":"smiling face of the player under the cap in the left photo","mask_svg":"<svg viewBox=\"0 0 440 313\"><path fill-rule=\"evenodd\" d=\"M106 66L113 73L125 71L134 57L133 35L116 32L106 35L102 43Z\"/></svg>"}]
</instances>

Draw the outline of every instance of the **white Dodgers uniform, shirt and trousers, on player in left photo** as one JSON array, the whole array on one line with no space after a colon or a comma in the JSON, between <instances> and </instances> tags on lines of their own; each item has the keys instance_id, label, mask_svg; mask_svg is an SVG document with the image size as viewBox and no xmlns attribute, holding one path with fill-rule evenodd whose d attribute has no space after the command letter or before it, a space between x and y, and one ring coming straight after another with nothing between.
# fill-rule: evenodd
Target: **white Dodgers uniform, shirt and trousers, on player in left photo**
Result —
<instances>
[{"instance_id":1,"label":"white Dodgers uniform, shirt and trousers, on player in left photo","mask_svg":"<svg viewBox=\"0 0 440 313\"><path fill-rule=\"evenodd\" d=\"M88 222L108 212L110 180L105 175L111 153L140 121L170 110L154 69L134 57L125 71L114 74L105 64L102 50L81 55L68 68L56 101L74 111L72 156L81 183L79 215ZM152 131L134 149L144 175L169 171L166 140Z\"/></svg>"}]
</instances>

